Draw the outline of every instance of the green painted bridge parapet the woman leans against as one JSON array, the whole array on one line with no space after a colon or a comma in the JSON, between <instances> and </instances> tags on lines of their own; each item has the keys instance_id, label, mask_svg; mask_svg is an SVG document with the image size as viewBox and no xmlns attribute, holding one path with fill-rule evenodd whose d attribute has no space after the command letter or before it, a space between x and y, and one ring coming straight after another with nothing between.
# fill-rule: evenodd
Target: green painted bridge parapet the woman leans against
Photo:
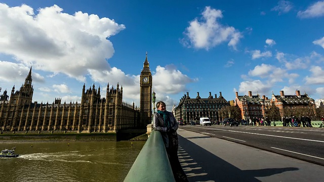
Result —
<instances>
[{"instance_id":1,"label":"green painted bridge parapet the woman leans against","mask_svg":"<svg viewBox=\"0 0 324 182\"><path fill-rule=\"evenodd\" d=\"M161 133L152 131L124 182L175 181Z\"/></svg>"}]
</instances>

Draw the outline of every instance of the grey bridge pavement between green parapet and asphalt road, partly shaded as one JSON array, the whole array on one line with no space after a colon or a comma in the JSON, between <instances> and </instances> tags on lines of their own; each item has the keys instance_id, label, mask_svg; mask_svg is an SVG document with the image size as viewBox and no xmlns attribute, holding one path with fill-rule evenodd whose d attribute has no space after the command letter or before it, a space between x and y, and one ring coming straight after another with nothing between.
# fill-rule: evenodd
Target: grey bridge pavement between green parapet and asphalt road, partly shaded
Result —
<instances>
[{"instance_id":1,"label":"grey bridge pavement between green parapet and asphalt road, partly shaded","mask_svg":"<svg viewBox=\"0 0 324 182\"><path fill-rule=\"evenodd\" d=\"M178 129L178 156L189 181L324 181L322 165L183 129L189 127Z\"/></svg>"}]
</instances>

